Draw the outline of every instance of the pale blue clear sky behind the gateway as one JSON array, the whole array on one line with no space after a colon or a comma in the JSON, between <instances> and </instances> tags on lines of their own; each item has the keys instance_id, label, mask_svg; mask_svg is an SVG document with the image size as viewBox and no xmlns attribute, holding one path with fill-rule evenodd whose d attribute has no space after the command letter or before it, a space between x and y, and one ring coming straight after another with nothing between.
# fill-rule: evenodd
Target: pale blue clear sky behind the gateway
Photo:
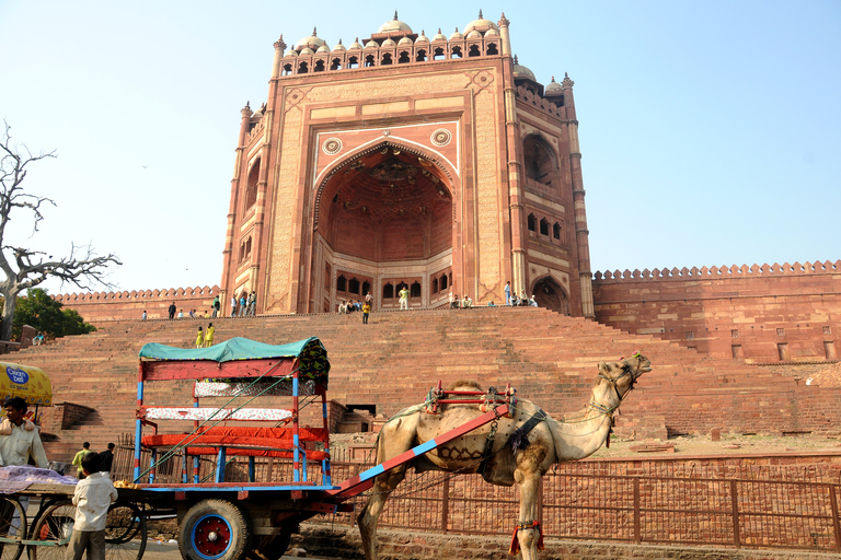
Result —
<instances>
[{"instance_id":1,"label":"pale blue clear sky behind the gateway","mask_svg":"<svg viewBox=\"0 0 841 560\"><path fill-rule=\"evenodd\" d=\"M395 9L427 36L505 12L538 81L575 81L594 271L841 259L839 0L0 0L0 118L58 155L25 179L56 207L4 243L116 254L119 290L218 284L274 42L348 45Z\"/></svg>"}]
</instances>

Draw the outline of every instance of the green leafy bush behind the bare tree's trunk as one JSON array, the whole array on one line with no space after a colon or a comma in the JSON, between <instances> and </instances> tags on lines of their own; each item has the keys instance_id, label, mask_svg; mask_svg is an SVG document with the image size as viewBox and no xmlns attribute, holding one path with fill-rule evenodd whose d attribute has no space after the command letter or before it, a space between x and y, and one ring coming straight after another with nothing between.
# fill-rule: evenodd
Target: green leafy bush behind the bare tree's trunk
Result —
<instances>
[{"instance_id":1,"label":"green leafy bush behind the bare tree's trunk","mask_svg":"<svg viewBox=\"0 0 841 560\"><path fill-rule=\"evenodd\" d=\"M76 310L62 308L61 302L51 299L46 290L32 288L26 298L19 298L14 310L14 337L28 325L44 332L45 337L58 338L67 335L93 332L96 327L85 323Z\"/></svg>"}]
</instances>

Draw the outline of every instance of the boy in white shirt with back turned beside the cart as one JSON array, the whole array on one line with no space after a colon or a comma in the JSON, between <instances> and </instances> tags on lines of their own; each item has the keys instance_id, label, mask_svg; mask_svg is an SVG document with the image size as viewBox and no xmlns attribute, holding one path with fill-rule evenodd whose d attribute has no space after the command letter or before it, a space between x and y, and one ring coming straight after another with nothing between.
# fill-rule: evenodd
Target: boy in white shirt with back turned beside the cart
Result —
<instances>
[{"instance_id":1,"label":"boy in white shirt with back turned beside the cart","mask_svg":"<svg viewBox=\"0 0 841 560\"><path fill-rule=\"evenodd\" d=\"M82 457L85 479L76 486L73 505L76 524L65 560L81 560L88 551L88 560L105 560L105 522L111 502L117 499L117 489L108 472L100 472L100 456L89 453Z\"/></svg>"}]
</instances>

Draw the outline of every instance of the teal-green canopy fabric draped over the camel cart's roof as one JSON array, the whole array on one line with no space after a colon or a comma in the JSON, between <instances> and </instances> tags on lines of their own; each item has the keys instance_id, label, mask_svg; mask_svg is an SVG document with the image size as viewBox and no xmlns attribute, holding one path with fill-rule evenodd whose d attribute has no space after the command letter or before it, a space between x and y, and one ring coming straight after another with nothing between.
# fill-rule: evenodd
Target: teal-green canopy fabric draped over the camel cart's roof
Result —
<instances>
[{"instance_id":1,"label":"teal-green canopy fabric draped over the camel cart's roof","mask_svg":"<svg viewBox=\"0 0 841 560\"><path fill-rule=\"evenodd\" d=\"M210 360L220 363L233 360L299 358L300 373L306 377L326 381L330 372L327 351L315 337L280 346L237 337L209 348L194 349L150 342L140 349L140 358L154 361Z\"/></svg>"}]
</instances>

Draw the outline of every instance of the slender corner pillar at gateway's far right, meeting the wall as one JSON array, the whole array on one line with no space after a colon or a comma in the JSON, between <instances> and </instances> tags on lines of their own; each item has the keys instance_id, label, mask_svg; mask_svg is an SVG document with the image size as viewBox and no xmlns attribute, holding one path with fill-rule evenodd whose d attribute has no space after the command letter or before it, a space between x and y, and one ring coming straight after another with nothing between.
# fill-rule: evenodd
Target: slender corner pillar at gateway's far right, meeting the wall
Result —
<instances>
[{"instance_id":1,"label":"slender corner pillar at gateway's far right, meeting the wall","mask_svg":"<svg viewBox=\"0 0 841 560\"><path fill-rule=\"evenodd\" d=\"M590 232L587 229L587 209L584 203L584 177L581 175L581 149L578 144L578 120L575 115L573 82L564 75L561 86L564 89L564 105L569 119L569 171L573 179L573 210L575 215L575 244L578 250L578 280L581 289L581 313L587 318L596 318L592 304L592 271L590 270Z\"/></svg>"}]
</instances>

